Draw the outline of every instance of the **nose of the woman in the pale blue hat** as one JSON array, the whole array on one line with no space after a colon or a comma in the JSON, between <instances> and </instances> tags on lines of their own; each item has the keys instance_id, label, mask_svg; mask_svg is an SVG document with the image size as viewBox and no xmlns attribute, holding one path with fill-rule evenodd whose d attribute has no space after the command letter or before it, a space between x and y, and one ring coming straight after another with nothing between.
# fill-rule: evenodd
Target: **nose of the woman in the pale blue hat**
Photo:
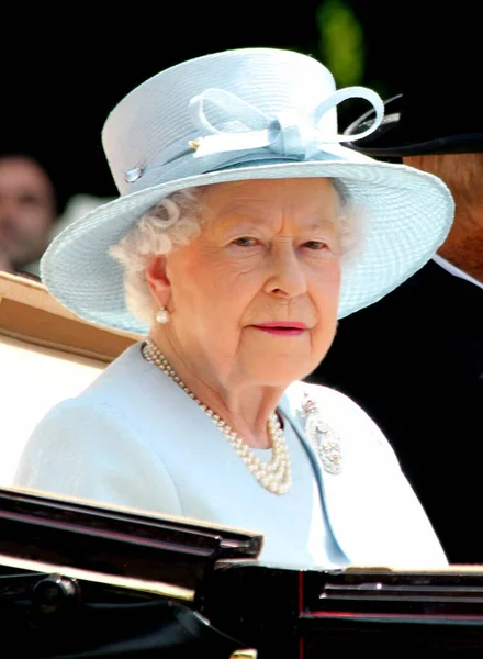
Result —
<instances>
[{"instance_id":1,"label":"nose of the woman in the pale blue hat","mask_svg":"<svg viewBox=\"0 0 483 659\"><path fill-rule=\"evenodd\" d=\"M294 246L288 242L272 247L270 272L265 291L291 299L303 295L306 290L306 276Z\"/></svg>"}]
</instances>

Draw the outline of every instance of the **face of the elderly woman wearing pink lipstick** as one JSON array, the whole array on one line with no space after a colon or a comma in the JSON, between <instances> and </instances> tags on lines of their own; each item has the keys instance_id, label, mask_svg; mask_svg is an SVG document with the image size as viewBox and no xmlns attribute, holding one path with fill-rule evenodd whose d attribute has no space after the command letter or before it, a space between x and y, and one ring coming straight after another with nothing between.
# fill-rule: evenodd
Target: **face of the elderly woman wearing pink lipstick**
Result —
<instances>
[{"instance_id":1,"label":"face of the elderly woman wearing pink lipstick","mask_svg":"<svg viewBox=\"0 0 483 659\"><path fill-rule=\"evenodd\" d=\"M220 381L287 386L337 325L339 202L327 179L210 186L201 234L166 258L170 344Z\"/></svg>"}]
</instances>

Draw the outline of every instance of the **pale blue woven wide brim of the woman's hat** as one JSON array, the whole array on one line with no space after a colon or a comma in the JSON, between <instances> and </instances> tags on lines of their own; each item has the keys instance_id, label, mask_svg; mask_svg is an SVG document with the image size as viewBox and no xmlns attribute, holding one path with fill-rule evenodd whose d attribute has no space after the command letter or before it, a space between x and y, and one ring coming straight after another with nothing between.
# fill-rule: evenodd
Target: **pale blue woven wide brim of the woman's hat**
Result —
<instances>
[{"instance_id":1,"label":"pale blue woven wide brim of the woman's hat","mask_svg":"<svg viewBox=\"0 0 483 659\"><path fill-rule=\"evenodd\" d=\"M135 222L177 190L248 179L340 179L352 202L364 212L360 253L342 261L339 317L362 309L416 272L445 241L453 202L436 177L403 165L368 158L352 161L282 161L192 176L120 197L69 225L50 243L41 277L50 293L78 316L135 334L148 327L124 301L123 270L109 254ZM193 282L195 286L195 282Z\"/></svg>"}]
</instances>

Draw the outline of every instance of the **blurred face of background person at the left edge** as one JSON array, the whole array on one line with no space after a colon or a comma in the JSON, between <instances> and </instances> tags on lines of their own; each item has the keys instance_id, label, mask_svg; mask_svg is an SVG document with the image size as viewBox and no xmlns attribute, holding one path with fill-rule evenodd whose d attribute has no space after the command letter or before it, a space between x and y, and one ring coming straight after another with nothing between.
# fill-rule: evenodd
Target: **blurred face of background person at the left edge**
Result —
<instances>
[{"instance_id":1,"label":"blurred face of background person at the left edge","mask_svg":"<svg viewBox=\"0 0 483 659\"><path fill-rule=\"evenodd\" d=\"M0 254L11 266L38 258L54 222L52 183L26 158L0 160Z\"/></svg>"}]
</instances>

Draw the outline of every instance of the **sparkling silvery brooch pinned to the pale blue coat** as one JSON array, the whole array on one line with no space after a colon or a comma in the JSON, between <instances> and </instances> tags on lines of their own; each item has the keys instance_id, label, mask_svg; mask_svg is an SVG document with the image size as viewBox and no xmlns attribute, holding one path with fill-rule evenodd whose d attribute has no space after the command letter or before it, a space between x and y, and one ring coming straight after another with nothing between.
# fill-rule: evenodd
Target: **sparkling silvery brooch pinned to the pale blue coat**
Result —
<instances>
[{"instance_id":1,"label":"sparkling silvery brooch pinned to the pale blue coat","mask_svg":"<svg viewBox=\"0 0 483 659\"><path fill-rule=\"evenodd\" d=\"M322 466L328 473L337 474L342 470L342 446L340 437L324 421L316 403L304 393L302 415L305 417L305 434L317 453Z\"/></svg>"}]
</instances>

